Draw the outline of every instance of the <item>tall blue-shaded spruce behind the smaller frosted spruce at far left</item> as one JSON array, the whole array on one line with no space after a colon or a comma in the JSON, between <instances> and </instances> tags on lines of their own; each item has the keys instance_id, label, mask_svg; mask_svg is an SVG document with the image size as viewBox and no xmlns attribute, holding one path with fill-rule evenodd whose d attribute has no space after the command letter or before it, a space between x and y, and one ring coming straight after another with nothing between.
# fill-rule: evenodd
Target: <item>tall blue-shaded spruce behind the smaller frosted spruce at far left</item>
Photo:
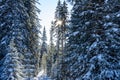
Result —
<instances>
[{"instance_id":1,"label":"tall blue-shaded spruce behind the smaller frosted spruce at far left","mask_svg":"<svg viewBox=\"0 0 120 80\"><path fill-rule=\"evenodd\" d=\"M13 37L15 37L14 39L14 42L16 45L15 48L17 49L18 53L20 53L21 55L22 54L24 55L24 57L22 57L22 61L20 61L23 65L25 65L24 59L29 58L25 56L25 54L27 53L32 54L32 59L34 57L35 57L34 59L37 59L36 55L34 55L35 53L32 53L32 50L30 49L30 48L33 49L33 47L30 47L30 45L33 45L31 42L35 41L35 39L37 40L37 38L33 36L31 37L30 33L38 32L38 27L39 27L38 24L34 24L34 26L37 26L37 28L36 27L34 27L34 29L31 28L31 24L33 25L32 21L36 20L36 22L38 22L38 19L36 19L35 17L33 18L30 17L30 14L28 13L29 12L28 10L30 7L28 7L29 4L26 4L27 1L32 2L31 0L24 0L24 1L23 0L1 0L0 1L0 9L1 9L0 10L0 17L1 17L0 31L2 32L2 34L0 34L0 56L1 56L1 60L0 60L1 75L0 76L4 76L4 74L2 74L2 70L4 70L6 66L3 65L3 63L5 62L5 57L8 54L8 49L9 49L8 45L10 44ZM33 35L35 36L35 34ZM34 39L30 40L31 38L34 38ZM37 44L37 41L35 43ZM34 48L34 51L36 49ZM38 50L36 51L38 52ZM34 64L31 63L32 65L37 64L37 60L36 62L35 60L31 62L34 62ZM26 67L24 66L23 71L25 69ZM35 72L37 72L37 68L34 69L34 73L33 73L34 75L35 75ZM4 73L7 73L7 70ZM24 74L24 77L26 76L27 75Z\"/></svg>"}]
</instances>

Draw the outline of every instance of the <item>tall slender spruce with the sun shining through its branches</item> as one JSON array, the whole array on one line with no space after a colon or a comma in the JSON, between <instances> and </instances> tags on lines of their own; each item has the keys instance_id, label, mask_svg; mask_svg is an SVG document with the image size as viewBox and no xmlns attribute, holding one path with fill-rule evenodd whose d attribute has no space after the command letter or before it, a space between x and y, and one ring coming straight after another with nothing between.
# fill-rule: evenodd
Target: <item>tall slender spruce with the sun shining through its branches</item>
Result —
<instances>
[{"instance_id":1,"label":"tall slender spruce with the sun shining through its branches","mask_svg":"<svg viewBox=\"0 0 120 80\"><path fill-rule=\"evenodd\" d=\"M56 34L56 51L55 51L55 63L52 66L52 77L60 79L62 75L62 57L65 48L65 33L66 33L66 20L67 20L67 4L64 1L58 1L56 12L55 12L55 26L54 31Z\"/></svg>"}]
</instances>

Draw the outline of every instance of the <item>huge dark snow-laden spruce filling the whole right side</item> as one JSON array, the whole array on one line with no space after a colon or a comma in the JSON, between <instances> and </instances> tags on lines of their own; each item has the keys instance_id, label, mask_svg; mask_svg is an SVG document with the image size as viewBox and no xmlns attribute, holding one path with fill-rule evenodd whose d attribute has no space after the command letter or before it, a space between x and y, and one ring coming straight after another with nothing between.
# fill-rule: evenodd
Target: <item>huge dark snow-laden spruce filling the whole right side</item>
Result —
<instances>
[{"instance_id":1,"label":"huge dark snow-laden spruce filling the whole right side","mask_svg":"<svg viewBox=\"0 0 120 80\"><path fill-rule=\"evenodd\" d=\"M120 0L73 1L65 80L120 79Z\"/></svg>"}]
</instances>

